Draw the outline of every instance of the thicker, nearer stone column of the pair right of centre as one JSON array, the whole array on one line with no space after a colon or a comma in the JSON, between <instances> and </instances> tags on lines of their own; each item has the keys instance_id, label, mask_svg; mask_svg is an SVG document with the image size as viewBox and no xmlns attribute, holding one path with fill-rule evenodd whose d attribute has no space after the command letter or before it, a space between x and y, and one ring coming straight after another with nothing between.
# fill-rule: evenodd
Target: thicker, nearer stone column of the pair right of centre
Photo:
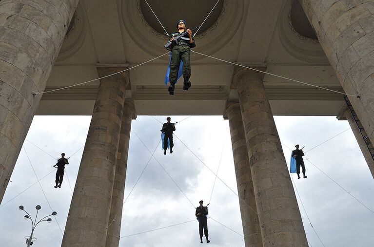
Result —
<instances>
[{"instance_id":1,"label":"thicker, nearer stone column of the pair right of centre","mask_svg":"<svg viewBox=\"0 0 374 247\"><path fill-rule=\"evenodd\" d=\"M262 76L239 70L233 78L239 94L262 243L265 247L308 246Z\"/></svg>"}]
</instances>

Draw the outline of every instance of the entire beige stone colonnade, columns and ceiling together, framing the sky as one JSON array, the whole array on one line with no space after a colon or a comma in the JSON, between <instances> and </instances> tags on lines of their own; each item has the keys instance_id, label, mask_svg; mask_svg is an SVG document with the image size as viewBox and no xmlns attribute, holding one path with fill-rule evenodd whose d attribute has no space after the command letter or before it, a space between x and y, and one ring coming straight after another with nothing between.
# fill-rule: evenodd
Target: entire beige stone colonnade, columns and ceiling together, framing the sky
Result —
<instances>
[{"instance_id":1,"label":"entire beige stone colonnade, columns and ceiling together, framing the sky","mask_svg":"<svg viewBox=\"0 0 374 247\"><path fill-rule=\"evenodd\" d=\"M169 33L216 2L148 0ZM35 114L92 114L62 246L118 246L132 119L224 115L245 245L307 246L273 115L347 119L374 174L373 23L373 0L220 0L195 50L222 60L192 53L192 88L170 96L168 56L131 69L165 53L144 0L0 0L0 199Z\"/></svg>"}]
</instances>

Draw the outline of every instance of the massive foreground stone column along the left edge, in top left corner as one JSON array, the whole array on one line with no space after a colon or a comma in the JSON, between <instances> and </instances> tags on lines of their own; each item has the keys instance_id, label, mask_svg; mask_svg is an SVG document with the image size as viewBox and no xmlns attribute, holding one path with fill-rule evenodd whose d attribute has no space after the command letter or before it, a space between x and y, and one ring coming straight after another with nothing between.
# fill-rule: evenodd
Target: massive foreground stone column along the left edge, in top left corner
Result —
<instances>
[{"instance_id":1,"label":"massive foreground stone column along the left edge, in top left corner","mask_svg":"<svg viewBox=\"0 0 374 247\"><path fill-rule=\"evenodd\" d=\"M0 1L0 202L78 1Z\"/></svg>"}]
</instances>

